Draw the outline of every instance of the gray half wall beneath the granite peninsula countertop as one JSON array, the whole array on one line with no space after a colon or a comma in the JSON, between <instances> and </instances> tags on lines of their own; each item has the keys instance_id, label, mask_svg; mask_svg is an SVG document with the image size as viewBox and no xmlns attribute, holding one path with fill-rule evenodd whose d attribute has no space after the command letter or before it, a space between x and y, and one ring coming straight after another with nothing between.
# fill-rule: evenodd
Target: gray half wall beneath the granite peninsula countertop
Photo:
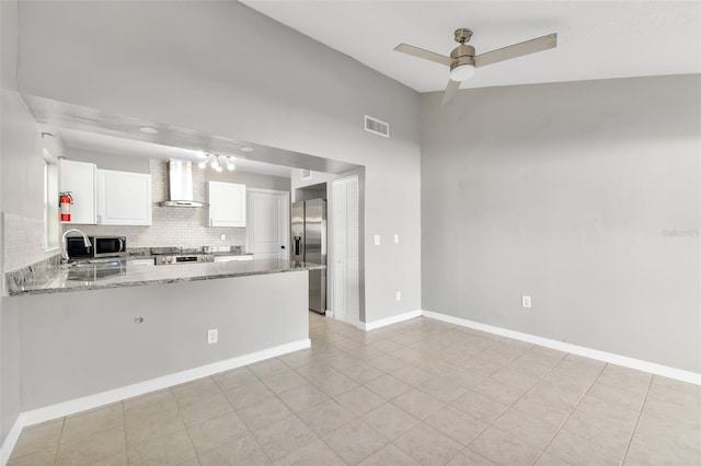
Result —
<instances>
[{"instance_id":1,"label":"gray half wall beneath the granite peninsula countertop","mask_svg":"<svg viewBox=\"0 0 701 466\"><path fill-rule=\"evenodd\" d=\"M20 307L22 410L307 340L307 286L308 272L292 271L10 298Z\"/></svg>"}]
</instances>

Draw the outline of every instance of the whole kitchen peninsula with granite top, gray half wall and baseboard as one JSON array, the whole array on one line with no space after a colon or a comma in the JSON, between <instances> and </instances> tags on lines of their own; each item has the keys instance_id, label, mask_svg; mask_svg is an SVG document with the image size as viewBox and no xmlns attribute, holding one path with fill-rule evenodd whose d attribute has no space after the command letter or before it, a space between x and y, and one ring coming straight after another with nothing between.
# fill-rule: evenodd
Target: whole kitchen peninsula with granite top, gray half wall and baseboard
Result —
<instances>
[{"instance_id":1,"label":"whole kitchen peninsula with granite top, gray half wall and baseboard","mask_svg":"<svg viewBox=\"0 0 701 466\"><path fill-rule=\"evenodd\" d=\"M26 283L9 300L20 311L27 420L308 348L308 270L319 267L277 259L127 266L94 281L58 273Z\"/></svg>"}]
</instances>

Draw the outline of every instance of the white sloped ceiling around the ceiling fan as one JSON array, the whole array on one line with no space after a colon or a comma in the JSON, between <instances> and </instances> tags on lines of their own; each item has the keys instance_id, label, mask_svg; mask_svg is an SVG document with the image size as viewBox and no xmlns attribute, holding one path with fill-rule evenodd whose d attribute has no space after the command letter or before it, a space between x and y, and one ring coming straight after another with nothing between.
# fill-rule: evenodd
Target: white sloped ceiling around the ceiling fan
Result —
<instances>
[{"instance_id":1,"label":"white sloped ceiling around the ceiling fan","mask_svg":"<svg viewBox=\"0 0 701 466\"><path fill-rule=\"evenodd\" d=\"M453 31L476 54L558 33L558 47L478 69L462 88L701 72L701 2L255 1L243 3L418 92L441 91L448 68L393 48L441 55Z\"/></svg>"}]
</instances>

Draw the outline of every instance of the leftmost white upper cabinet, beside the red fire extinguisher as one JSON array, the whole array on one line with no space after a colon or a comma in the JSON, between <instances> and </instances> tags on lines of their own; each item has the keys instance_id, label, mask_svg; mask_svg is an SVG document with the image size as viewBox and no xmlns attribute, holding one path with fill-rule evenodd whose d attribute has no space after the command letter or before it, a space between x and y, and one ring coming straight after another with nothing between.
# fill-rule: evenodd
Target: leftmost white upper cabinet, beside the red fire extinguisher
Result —
<instances>
[{"instance_id":1,"label":"leftmost white upper cabinet, beside the red fire extinguisher","mask_svg":"<svg viewBox=\"0 0 701 466\"><path fill-rule=\"evenodd\" d=\"M70 222L76 224L97 223L97 166L94 163L61 160L59 191L70 191ZM58 199L56 200L58 202Z\"/></svg>"}]
</instances>

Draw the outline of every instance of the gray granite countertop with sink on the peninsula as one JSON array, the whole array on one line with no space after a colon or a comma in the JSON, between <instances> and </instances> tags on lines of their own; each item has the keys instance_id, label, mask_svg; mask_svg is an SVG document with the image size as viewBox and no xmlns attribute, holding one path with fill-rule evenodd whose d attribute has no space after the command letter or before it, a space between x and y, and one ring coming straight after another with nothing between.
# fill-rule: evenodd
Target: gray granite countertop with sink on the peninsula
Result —
<instances>
[{"instance_id":1,"label":"gray granite countertop with sink on the peninsula","mask_svg":"<svg viewBox=\"0 0 701 466\"><path fill-rule=\"evenodd\" d=\"M10 296L26 294L60 293L70 291L102 290L107 288L140 287L146 284L176 283L181 281L215 280L220 278L245 277L253 275L281 273L323 269L325 266L281 259L242 260L228 263L196 263L174 266L128 266L125 261L117 265L82 267L78 277L67 267L60 267L50 280L37 279L10 289ZM71 273L73 271L73 273Z\"/></svg>"}]
</instances>

